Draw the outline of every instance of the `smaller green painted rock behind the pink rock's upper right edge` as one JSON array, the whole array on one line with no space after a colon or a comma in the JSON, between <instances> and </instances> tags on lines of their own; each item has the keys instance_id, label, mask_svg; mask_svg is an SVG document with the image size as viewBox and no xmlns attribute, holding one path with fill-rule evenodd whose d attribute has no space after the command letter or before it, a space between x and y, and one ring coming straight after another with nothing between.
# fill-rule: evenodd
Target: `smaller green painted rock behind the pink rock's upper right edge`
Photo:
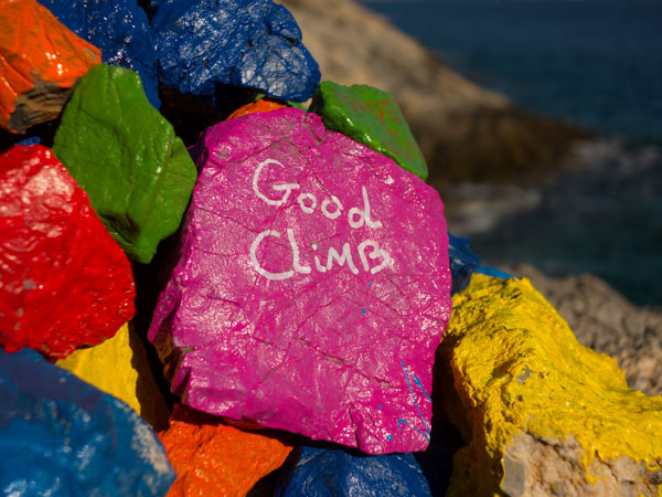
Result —
<instances>
[{"instance_id":1,"label":"smaller green painted rock behind the pink rock's upper right edge","mask_svg":"<svg viewBox=\"0 0 662 497\"><path fill-rule=\"evenodd\" d=\"M328 129L391 157L424 181L427 166L399 107L391 95L366 85L342 86L324 81L308 109L321 116Z\"/></svg>"}]
</instances>

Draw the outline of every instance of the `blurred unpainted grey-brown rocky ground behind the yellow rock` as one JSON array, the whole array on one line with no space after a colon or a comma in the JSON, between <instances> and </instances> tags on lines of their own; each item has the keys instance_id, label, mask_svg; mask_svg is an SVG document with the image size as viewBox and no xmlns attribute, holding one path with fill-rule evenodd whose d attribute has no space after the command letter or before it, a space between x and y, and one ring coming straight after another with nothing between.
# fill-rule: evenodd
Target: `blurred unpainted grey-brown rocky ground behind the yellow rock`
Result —
<instances>
[{"instance_id":1,"label":"blurred unpainted grey-brown rocky ground behind the yellow rock","mask_svg":"<svg viewBox=\"0 0 662 497\"><path fill-rule=\"evenodd\" d=\"M631 389L662 394L662 309L637 307L589 274L553 278L527 264L508 269L530 278L581 343L615 358Z\"/></svg>"}]
</instances>

